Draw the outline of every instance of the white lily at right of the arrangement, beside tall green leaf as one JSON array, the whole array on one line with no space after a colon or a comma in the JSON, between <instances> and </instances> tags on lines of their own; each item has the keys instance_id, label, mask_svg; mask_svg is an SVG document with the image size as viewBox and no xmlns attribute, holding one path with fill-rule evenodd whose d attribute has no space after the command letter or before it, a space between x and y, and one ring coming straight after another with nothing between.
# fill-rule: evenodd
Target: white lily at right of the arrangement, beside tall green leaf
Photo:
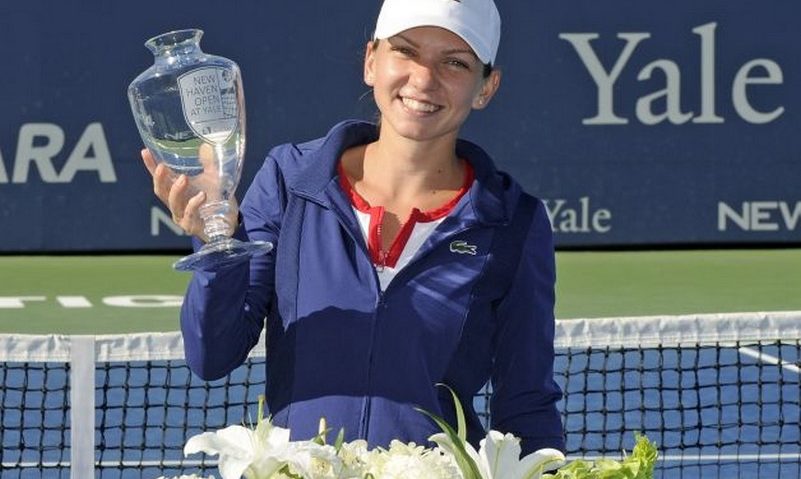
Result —
<instances>
[{"instance_id":1,"label":"white lily at right of the arrangement, beside tall green leaf","mask_svg":"<svg viewBox=\"0 0 801 479\"><path fill-rule=\"evenodd\" d=\"M436 442L445 453L454 457L457 454L447 434L434 434L429 440ZM490 431L479 444L476 451L467 441L462 443L481 474L480 478L469 479L539 479L546 470L565 462L564 454L556 449L540 449L521 459L520 439L509 433Z\"/></svg>"}]
</instances>

